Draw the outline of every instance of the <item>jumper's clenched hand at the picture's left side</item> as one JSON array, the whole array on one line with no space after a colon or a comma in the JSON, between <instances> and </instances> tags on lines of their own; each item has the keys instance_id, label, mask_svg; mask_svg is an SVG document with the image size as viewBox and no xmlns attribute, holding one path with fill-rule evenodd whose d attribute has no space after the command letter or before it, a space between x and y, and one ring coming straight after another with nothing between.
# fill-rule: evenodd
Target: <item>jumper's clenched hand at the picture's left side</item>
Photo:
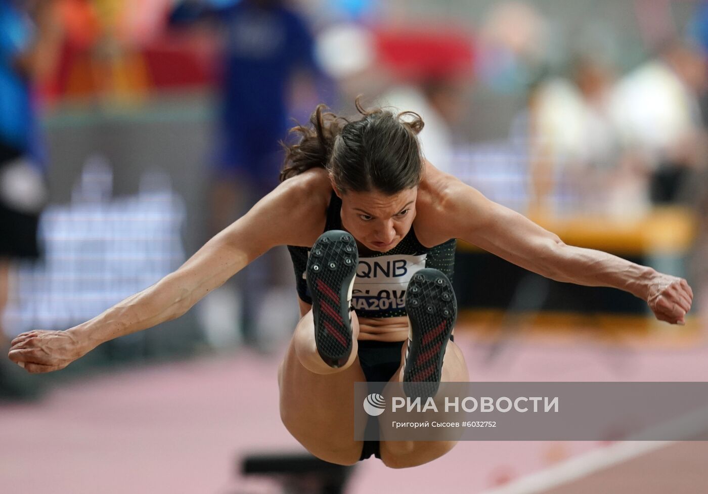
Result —
<instances>
[{"instance_id":1,"label":"jumper's clenched hand at the picture's left side","mask_svg":"<svg viewBox=\"0 0 708 494\"><path fill-rule=\"evenodd\" d=\"M71 331L29 331L11 341L8 357L32 374L64 369L86 351Z\"/></svg>"}]
</instances>

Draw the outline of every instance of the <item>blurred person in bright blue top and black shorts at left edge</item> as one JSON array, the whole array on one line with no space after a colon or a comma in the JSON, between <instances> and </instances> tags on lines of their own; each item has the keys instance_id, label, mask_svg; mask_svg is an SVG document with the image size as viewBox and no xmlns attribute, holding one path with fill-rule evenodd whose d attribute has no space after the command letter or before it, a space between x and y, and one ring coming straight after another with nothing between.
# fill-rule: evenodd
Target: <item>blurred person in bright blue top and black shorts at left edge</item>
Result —
<instances>
[{"instance_id":1,"label":"blurred person in bright blue top and black shorts at left edge","mask_svg":"<svg viewBox=\"0 0 708 494\"><path fill-rule=\"evenodd\" d=\"M47 200L35 83L53 67L59 33L49 0L0 0L0 347L14 260L39 256L37 226ZM0 397L32 394L0 364Z\"/></svg>"}]
</instances>

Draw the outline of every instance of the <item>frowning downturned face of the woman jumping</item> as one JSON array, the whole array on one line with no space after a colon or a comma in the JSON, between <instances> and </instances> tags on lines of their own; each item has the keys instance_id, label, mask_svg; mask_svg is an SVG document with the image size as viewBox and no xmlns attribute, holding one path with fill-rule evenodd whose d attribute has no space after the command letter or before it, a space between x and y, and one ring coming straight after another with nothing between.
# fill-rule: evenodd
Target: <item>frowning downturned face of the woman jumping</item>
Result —
<instances>
[{"instance_id":1,"label":"frowning downturned face of the woman jumping","mask_svg":"<svg viewBox=\"0 0 708 494\"><path fill-rule=\"evenodd\" d=\"M394 195L379 192L348 192L342 200L342 226L372 251L390 251L411 231L416 217L418 188Z\"/></svg>"}]
</instances>

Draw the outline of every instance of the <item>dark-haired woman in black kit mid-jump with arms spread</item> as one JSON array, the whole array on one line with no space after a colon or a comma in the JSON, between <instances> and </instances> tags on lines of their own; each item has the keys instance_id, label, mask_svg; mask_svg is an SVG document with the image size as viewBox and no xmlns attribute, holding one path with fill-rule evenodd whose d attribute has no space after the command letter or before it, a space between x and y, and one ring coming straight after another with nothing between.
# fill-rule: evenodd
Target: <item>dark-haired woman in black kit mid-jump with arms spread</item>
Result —
<instances>
[{"instance_id":1,"label":"dark-haired woman in black kit mid-jump with arms spread","mask_svg":"<svg viewBox=\"0 0 708 494\"><path fill-rule=\"evenodd\" d=\"M685 280L567 246L423 159L415 113L357 108L361 117L349 121L320 105L311 126L295 127L302 139L287 149L280 185L181 268L67 331L19 335L10 359L33 373L63 369L101 343L185 314L287 245L302 318L278 374L282 422L326 461L374 454L406 467L455 443L353 440L353 383L469 380L452 338L455 239L553 280L625 290L661 321L684 322L693 297Z\"/></svg>"}]
</instances>

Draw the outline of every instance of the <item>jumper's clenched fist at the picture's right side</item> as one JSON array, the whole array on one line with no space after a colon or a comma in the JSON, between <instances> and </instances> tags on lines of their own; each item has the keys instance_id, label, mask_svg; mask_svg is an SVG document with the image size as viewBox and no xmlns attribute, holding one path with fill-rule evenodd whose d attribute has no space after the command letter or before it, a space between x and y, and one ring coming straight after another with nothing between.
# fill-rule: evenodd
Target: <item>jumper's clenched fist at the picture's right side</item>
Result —
<instances>
[{"instance_id":1,"label":"jumper's clenched fist at the picture's right side","mask_svg":"<svg viewBox=\"0 0 708 494\"><path fill-rule=\"evenodd\" d=\"M649 283L646 302L659 321L685 324L692 301L693 290L683 278L659 272Z\"/></svg>"}]
</instances>

